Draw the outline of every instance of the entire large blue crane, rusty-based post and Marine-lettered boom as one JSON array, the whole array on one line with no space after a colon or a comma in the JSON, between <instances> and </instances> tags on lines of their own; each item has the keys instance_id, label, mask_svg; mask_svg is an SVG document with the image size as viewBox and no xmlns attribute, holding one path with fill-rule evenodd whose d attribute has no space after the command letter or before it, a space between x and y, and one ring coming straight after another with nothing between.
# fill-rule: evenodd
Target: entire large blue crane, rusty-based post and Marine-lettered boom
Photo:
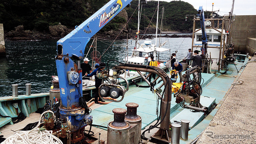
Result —
<instances>
[{"instance_id":1,"label":"entire large blue crane, rusty-based post and Marine-lettered boom","mask_svg":"<svg viewBox=\"0 0 256 144\"><path fill-rule=\"evenodd\" d=\"M79 104L82 97L82 69L80 60L84 58L84 50L90 38L104 27L132 0L110 0L95 14L57 42L55 57L60 86L60 117L66 119L70 128L84 128L81 123L85 109ZM76 60L76 61L75 61Z\"/></svg>"}]
</instances>

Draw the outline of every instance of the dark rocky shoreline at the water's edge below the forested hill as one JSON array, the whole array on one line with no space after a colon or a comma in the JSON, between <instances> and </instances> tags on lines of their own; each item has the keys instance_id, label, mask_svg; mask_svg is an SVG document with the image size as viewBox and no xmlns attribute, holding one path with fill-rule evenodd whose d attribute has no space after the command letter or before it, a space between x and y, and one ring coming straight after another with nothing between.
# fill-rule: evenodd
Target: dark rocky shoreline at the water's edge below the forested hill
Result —
<instances>
[{"instance_id":1,"label":"dark rocky shoreline at the water's edge below the forested hill","mask_svg":"<svg viewBox=\"0 0 256 144\"><path fill-rule=\"evenodd\" d=\"M49 26L49 32L38 32L34 30L24 30L24 26L20 25L15 27L15 30L11 30L10 32L5 32L4 38L8 40L41 40L41 39L60 39L70 33L72 29L68 29L66 26L61 25L60 23L55 26ZM117 34L120 31L110 30L108 32L98 32L95 37L113 40L116 38ZM145 34L143 39L154 38L155 35L154 30L148 30L149 34ZM174 32L171 34L165 34L161 37L169 37L169 38L189 38L192 37L192 34L178 34L179 32ZM123 30L117 39L126 39L128 34L128 38L135 38L136 31L134 30ZM144 34L143 31L140 32L140 35ZM140 36L141 37L141 36Z\"/></svg>"}]
</instances>

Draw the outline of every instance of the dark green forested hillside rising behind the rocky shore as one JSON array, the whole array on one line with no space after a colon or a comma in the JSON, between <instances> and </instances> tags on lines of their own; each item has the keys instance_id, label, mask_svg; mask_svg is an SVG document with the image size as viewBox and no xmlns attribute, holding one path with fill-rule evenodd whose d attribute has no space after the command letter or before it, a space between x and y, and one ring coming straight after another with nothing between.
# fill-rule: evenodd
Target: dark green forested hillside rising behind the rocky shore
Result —
<instances>
[{"instance_id":1,"label":"dark green forested hillside rising behind the rocky shore","mask_svg":"<svg viewBox=\"0 0 256 144\"><path fill-rule=\"evenodd\" d=\"M23 25L24 30L49 32L49 26L59 23L69 29L81 24L100 9L109 0L1 0L0 23L4 24L4 30L14 30L15 27ZM126 7L128 19L138 6L138 0L131 2ZM156 10L157 1L148 1L142 6L140 30L146 28ZM164 30L192 32L192 17L185 21L186 14L196 14L196 9L189 3L183 1L160 2L159 16L164 7ZM156 13L150 27L156 25ZM207 16L207 14L205 14ZM121 23L121 24L120 24ZM115 17L107 24L101 32L120 30L126 19ZM134 12L126 29L136 30L138 24L138 9Z\"/></svg>"}]
</instances>

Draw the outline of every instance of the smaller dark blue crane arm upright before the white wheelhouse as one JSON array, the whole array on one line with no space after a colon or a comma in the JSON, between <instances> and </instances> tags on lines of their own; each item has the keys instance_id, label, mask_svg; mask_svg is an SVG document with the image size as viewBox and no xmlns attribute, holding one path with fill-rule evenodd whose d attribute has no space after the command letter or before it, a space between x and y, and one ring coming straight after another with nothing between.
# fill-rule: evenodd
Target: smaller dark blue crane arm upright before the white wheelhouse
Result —
<instances>
[{"instance_id":1,"label":"smaller dark blue crane arm upright before the white wheelhouse","mask_svg":"<svg viewBox=\"0 0 256 144\"><path fill-rule=\"evenodd\" d=\"M198 14L196 16L199 16L200 18L200 25L201 25L201 30L202 30L202 54L206 53L207 50L207 35L206 35L206 26L205 26L205 19L204 19L204 9L203 6L200 6L199 9L197 10Z\"/></svg>"}]
</instances>

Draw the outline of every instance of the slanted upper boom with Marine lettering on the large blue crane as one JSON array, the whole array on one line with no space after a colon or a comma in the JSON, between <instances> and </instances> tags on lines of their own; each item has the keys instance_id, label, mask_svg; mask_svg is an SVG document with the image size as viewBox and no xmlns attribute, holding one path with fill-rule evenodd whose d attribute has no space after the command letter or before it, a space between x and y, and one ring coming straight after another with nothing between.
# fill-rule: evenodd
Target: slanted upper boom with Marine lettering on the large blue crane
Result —
<instances>
[{"instance_id":1,"label":"slanted upper boom with Marine lettering on the large blue crane","mask_svg":"<svg viewBox=\"0 0 256 144\"><path fill-rule=\"evenodd\" d=\"M114 18L131 1L132 0L110 0L105 6L90 16L90 18L85 20L79 26L76 26L72 32L58 40L58 54L61 54L62 56L69 55L70 57L75 56L82 60L84 57L85 46L90 38L112 20L112 18Z\"/></svg>"}]
</instances>

